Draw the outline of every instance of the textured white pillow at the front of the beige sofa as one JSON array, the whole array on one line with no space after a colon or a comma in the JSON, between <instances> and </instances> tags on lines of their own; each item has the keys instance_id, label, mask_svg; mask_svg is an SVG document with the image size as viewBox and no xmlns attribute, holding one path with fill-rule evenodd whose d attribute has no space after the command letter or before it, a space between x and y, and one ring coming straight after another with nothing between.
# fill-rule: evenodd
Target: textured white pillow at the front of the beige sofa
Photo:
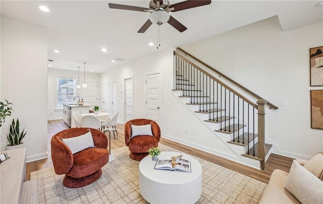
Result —
<instances>
[{"instance_id":1,"label":"textured white pillow at the front of the beige sofa","mask_svg":"<svg viewBox=\"0 0 323 204\"><path fill-rule=\"evenodd\" d=\"M293 161L285 187L302 203L323 203L323 182L296 161Z\"/></svg>"}]
</instances>

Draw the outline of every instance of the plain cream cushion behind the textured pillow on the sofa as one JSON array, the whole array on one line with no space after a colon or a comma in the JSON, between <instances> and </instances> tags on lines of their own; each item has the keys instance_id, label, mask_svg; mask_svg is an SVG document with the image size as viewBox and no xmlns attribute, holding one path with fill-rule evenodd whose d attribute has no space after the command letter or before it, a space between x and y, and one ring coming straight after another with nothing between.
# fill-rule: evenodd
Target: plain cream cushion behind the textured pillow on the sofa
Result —
<instances>
[{"instance_id":1,"label":"plain cream cushion behind the textured pillow on the sofa","mask_svg":"<svg viewBox=\"0 0 323 204\"><path fill-rule=\"evenodd\" d=\"M303 167L323 181L323 152L314 155Z\"/></svg>"}]
</instances>

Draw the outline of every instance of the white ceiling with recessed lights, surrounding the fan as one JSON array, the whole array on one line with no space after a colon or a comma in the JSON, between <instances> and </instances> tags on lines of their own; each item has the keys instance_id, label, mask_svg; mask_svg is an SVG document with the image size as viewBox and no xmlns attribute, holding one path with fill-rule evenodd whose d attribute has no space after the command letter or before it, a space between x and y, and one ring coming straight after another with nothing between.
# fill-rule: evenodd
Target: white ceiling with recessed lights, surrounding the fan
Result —
<instances>
[{"instance_id":1,"label":"white ceiling with recessed lights, surrounding the fan","mask_svg":"<svg viewBox=\"0 0 323 204\"><path fill-rule=\"evenodd\" d=\"M182 2L172 1L171 5ZM161 47L156 44L157 26L137 33L149 13L110 9L108 3L148 8L144 1L1 1L1 16L45 27L48 58L53 69L102 73L136 58L170 47L178 47L256 21L278 16L282 29L303 27L323 21L323 7L316 1L212 1L210 5L170 12L188 29L178 32L169 24L160 26ZM38 9L44 5L50 13ZM310 36L309 36L310 37ZM104 53L101 48L109 51ZM55 53L58 49L61 52ZM116 58L124 62L112 63Z\"/></svg>"}]
</instances>

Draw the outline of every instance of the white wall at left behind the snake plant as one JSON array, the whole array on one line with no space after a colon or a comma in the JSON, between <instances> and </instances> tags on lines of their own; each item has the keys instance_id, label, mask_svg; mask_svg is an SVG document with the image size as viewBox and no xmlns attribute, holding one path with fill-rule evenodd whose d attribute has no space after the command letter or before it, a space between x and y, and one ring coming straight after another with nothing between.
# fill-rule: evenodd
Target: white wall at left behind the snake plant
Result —
<instances>
[{"instance_id":1,"label":"white wall at left behind the snake plant","mask_svg":"<svg viewBox=\"0 0 323 204\"><path fill-rule=\"evenodd\" d=\"M13 118L26 125L27 161L47 157L47 36L45 28L1 18L1 101L15 110L1 127L1 147Z\"/></svg>"}]
</instances>

